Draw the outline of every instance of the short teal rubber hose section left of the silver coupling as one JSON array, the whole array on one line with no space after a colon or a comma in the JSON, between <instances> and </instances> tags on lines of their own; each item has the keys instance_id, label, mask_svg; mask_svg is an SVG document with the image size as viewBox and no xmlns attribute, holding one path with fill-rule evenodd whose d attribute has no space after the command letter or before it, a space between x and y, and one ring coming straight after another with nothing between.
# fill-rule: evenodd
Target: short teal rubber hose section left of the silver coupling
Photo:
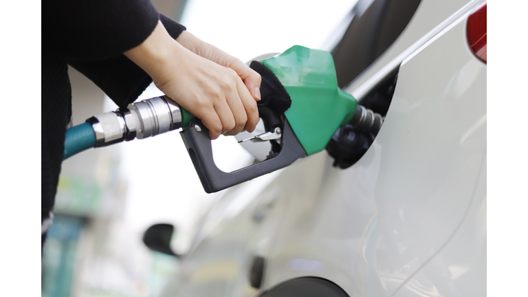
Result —
<instances>
[{"instance_id":1,"label":"short teal rubber hose section left of the silver coupling","mask_svg":"<svg viewBox=\"0 0 528 297\"><path fill-rule=\"evenodd\" d=\"M66 130L63 160L96 146L96 133L89 122Z\"/></svg>"}]
</instances>

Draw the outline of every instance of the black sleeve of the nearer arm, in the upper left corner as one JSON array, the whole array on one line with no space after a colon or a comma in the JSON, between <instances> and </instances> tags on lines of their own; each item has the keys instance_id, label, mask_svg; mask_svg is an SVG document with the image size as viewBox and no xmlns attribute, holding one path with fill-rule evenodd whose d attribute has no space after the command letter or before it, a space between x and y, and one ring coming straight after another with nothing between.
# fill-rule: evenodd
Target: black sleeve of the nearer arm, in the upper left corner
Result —
<instances>
[{"instance_id":1,"label":"black sleeve of the nearer arm, in the upper left corner","mask_svg":"<svg viewBox=\"0 0 528 297\"><path fill-rule=\"evenodd\" d=\"M159 20L150 0L43 0L41 15L43 46L83 60L140 45Z\"/></svg>"}]
</instances>

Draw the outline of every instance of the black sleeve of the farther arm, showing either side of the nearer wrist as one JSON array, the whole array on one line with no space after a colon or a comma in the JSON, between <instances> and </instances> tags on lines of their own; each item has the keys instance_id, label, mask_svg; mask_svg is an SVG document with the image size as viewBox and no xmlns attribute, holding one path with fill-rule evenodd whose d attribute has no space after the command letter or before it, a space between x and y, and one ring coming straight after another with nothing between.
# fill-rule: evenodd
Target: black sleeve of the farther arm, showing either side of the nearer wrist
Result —
<instances>
[{"instance_id":1,"label":"black sleeve of the farther arm, showing either side of the nearer wrist","mask_svg":"<svg viewBox=\"0 0 528 297\"><path fill-rule=\"evenodd\" d=\"M159 19L173 39L186 30L163 14L159 14ZM121 109L134 102L152 83L152 78L124 54L99 61L68 58L68 64L93 81Z\"/></svg>"}]
</instances>

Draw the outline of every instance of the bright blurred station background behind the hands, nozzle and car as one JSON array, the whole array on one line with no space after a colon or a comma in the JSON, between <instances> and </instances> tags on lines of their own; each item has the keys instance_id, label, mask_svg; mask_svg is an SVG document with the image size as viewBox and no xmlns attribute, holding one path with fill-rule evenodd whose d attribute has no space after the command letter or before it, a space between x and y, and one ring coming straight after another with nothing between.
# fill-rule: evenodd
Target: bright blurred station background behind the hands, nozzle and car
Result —
<instances>
[{"instance_id":1,"label":"bright blurred station background behind the hands, nozzle and car","mask_svg":"<svg viewBox=\"0 0 528 297\"><path fill-rule=\"evenodd\" d=\"M355 0L153 0L159 12L242 61L292 45L329 50ZM117 108L94 83L69 69L74 124ZM139 99L162 93L153 85ZM223 170L253 157L234 137L213 142ZM189 248L199 219L223 192L206 194L178 133L91 149L63 162L54 224L42 259L42 296L157 296L178 269L148 250L144 231L175 225L173 248Z\"/></svg>"}]
</instances>

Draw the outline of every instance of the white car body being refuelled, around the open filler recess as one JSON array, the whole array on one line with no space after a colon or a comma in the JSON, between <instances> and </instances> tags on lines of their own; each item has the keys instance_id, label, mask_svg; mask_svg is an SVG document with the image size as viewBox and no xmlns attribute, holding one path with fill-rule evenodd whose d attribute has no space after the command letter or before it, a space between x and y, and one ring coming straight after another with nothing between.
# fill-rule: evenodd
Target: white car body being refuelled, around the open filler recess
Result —
<instances>
[{"instance_id":1,"label":"white car body being refuelled, around the open filler recess","mask_svg":"<svg viewBox=\"0 0 528 297\"><path fill-rule=\"evenodd\" d=\"M485 296L487 74L465 33L482 3L421 1L345 88L361 103L399 67L366 154L343 170L323 151L230 189L162 296L268 296L302 277L349 296Z\"/></svg>"}]
</instances>

